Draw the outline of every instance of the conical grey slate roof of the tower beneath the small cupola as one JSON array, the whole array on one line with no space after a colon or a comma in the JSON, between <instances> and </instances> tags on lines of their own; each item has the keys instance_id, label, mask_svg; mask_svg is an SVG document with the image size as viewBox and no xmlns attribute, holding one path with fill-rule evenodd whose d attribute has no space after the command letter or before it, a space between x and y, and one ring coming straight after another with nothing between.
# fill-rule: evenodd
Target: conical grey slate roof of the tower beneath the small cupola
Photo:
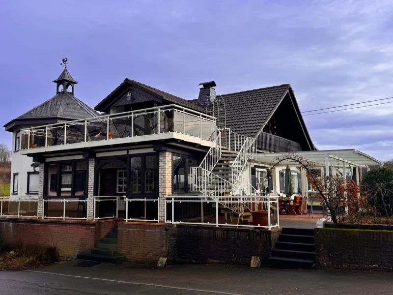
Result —
<instances>
[{"instance_id":1,"label":"conical grey slate roof of the tower beneath the small cupola","mask_svg":"<svg viewBox=\"0 0 393 295\"><path fill-rule=\"evenodd\" d=\"M44 103L32 108L25 114L4 125L18 120L34 120L45 118L85 119L97 117L99 114L84 104L70 92L59 92Z\"/></svg>"}]
</instances>

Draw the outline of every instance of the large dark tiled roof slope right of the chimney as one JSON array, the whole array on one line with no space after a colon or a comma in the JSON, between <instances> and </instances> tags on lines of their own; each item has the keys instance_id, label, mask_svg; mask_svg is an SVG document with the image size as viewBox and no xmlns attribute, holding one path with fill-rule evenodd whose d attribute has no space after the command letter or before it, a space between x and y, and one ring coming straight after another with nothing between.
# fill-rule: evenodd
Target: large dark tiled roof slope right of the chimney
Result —
<instances>
[{"instance_id":1,"label":"large dark tiled roof slope right of the chimney","mask_svg":"<svg viewBox=\"0 0 393 295\"><path fill-rule=\"evenodd\" d=\"M290 87L283 84L221 95L225 101L226 126L236 133L255 137Z\"/></svg>"}]
</instances>

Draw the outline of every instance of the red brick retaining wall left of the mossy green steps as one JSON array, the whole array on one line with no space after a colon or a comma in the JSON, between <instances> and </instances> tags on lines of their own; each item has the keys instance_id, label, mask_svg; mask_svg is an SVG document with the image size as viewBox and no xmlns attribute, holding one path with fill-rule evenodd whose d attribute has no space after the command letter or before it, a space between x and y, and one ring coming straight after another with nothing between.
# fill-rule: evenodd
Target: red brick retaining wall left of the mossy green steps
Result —
<instances>
[{"instance_id":1,"label":"red brick retaining wall left of the mossy green steps","mask_svg":"<svg viewBox=\"0 0 393 295\"><path fill-rule=\"evenodd\" d=\"M60 256L76 257L89 251L117 221L69 222L41 220L0 220L0 239L9 247L24 243L45 251L57 247Z\"/></svg>"}]
</instances>

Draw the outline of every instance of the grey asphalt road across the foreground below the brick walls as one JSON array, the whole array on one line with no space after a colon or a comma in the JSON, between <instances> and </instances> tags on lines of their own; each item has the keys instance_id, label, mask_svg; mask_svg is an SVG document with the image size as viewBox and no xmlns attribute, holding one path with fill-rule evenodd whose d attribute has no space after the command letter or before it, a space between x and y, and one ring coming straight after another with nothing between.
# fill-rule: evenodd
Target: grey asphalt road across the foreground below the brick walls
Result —
<instances>
[{"instance_id":1,"label":"grey asphalt road across the foreground below the brick walls","mask_svg":"<svg viewBox=\"0 0 393 295\"><path fill-rule=\"evenodd\" d=\"M393 295L393 273L183 265L152 268L76 262L0 272L1 295Z\"/></svg>"}]
</instances>

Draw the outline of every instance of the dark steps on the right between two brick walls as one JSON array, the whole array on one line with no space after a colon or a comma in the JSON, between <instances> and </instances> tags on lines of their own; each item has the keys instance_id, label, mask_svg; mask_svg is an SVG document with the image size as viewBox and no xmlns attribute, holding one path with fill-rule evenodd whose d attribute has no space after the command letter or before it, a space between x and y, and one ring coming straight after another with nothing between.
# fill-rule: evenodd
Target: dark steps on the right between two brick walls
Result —
<instances>
[{"instance_id":1,"label":"dark steps on the right between two brick walls","mask_svg":"<svg viewBox=\"0 0 393 295\"><path fill-rule=\"evenodd\" d=\"M315 266L314 230L283 228L269 262L272 268L313 268Z\"/></svg>"}]
</instances>

